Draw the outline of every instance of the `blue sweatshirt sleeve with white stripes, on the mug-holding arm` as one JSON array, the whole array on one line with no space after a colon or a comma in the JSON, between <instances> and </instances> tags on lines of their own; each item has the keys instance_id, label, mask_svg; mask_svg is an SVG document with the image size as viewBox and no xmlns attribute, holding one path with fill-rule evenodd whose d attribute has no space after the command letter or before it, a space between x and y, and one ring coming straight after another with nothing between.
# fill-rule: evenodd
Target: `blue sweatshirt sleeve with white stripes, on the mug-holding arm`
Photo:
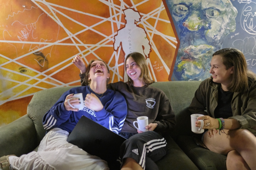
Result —
<instances>
[{"instance_id":1,"label":"blue sweatshirt sleeve with white stripes, on the mug-holding arm","mask_svg":"<svg viewBox=\"0 0 256 170\"><path fill-rule=\"evenodd\" d=\"M60 99L50 108L49 111L43 116L43 127L46 130L58 127L61 123L66 122L69 119L72 111L66 111L64 107L64 101L66 96L72 94L71 92L65 92Z\"/></svg>"}]
</instances>

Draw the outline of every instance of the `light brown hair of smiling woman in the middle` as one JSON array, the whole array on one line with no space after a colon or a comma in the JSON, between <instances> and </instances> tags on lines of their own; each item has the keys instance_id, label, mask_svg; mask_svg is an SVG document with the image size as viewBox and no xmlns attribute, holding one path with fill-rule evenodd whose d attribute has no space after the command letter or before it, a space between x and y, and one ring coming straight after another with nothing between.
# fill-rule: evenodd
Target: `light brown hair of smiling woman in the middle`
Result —
<instances>
[{"instance_id":1,"label":"light brown hair of smiling woman in the middle","mask_svg":"<svg viewBox=\"0 0 256 170\"><path fill-rule=\"evenodd\" d=\"M133 52L133 53L130 53L127 55L127 57L125 59L125 71L126 71L126 60L129 57L134 59L134 61L136 62L136 64L139 66L139 68L141 70L139 80L142 81L145 85L150 85L150 84L154 83L154 81L151 80L150 76L149 76L149 69L148 69L148 65L146 62L146 58L141 53ZM129 76L128 76L128 85L133 85L133 80Z\"/></svg>"}]
</instances>

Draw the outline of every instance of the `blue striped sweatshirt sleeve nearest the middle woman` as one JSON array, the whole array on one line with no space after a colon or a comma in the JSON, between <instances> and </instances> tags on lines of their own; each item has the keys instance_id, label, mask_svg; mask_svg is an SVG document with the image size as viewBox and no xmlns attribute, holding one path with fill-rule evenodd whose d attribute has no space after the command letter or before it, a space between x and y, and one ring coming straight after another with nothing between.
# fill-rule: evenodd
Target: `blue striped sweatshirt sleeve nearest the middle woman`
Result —
<instances>
[{"instance_id":1,"label":"blue striped sweatshirt sleeve nearest the middle woman","mask_svg":"<svg viewBox=\"0 0 256 170\"><path fill-rule=\"evenodd\" d=\"M95 111L95 115L99 124L119 134L127 115L125 98L119 92L115 92L111 104L101 111Z\"/></svg>"}]
</instances>

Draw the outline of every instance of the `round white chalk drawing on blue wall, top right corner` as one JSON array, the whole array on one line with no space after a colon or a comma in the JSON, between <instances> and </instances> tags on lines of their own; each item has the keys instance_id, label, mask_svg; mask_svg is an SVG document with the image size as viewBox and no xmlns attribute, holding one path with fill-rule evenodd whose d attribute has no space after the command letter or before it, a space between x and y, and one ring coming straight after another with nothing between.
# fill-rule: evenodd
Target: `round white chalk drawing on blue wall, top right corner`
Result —
<instances>
[{"instance_id":1,"label":"round white chalk drawing on blue wall, top right corner","mask_svg":"<svg viewBox=\"0 0 256 170\"><path fill-rule=\"evenodd\" d=\"M254 24L253 24L254 23ZM241 26L249 34L256 35L256 3L248 2L241 13Z\"/></svg>"}]
</instances>

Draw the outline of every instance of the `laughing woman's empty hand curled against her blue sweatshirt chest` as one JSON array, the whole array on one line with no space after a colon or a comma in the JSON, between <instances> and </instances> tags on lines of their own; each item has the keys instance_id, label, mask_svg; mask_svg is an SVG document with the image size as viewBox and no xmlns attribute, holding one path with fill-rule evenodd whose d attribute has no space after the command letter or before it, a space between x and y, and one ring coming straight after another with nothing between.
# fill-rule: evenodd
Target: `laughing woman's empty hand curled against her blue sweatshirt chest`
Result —
<instances>
[{"instance_id":1,"label":"laughing woman's empty hand curled against her blue sweatshirt chest","mask_svg":"<svg viewBox=\"0 0 256 170\"><path fill-rule=\"evenodd\" d=\"M103 109L103 105L101 101L94 93L86 95L84 104L86 105L87 108L94 111L101 111Z\"/></svg>"}]
</instances>

